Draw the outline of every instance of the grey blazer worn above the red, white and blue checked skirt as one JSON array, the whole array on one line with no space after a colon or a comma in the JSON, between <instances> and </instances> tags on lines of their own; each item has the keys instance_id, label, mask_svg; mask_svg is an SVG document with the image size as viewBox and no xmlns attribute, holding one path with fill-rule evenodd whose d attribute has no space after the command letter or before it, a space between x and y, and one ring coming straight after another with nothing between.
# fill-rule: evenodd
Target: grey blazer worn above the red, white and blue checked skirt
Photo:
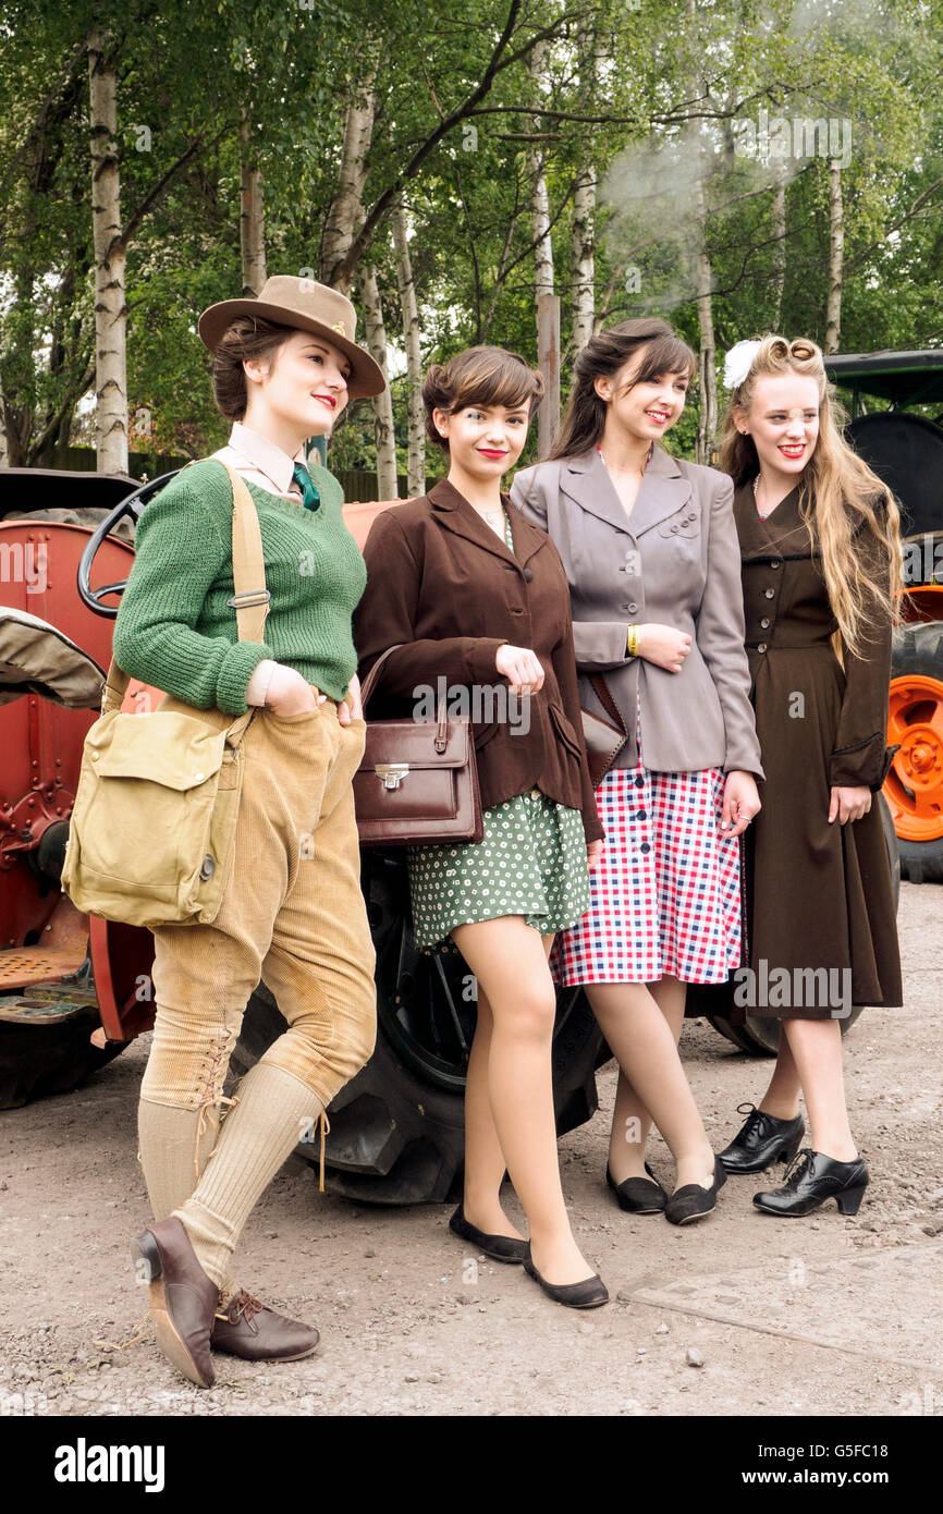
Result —
<instances>
[{"instance_id":1,"label":"grey blazer worn above the red, white and blue checked skirt","mask_svg":"<svg viewBox=\"0 0 943 1514\"><path fill-rule=\"evenodd\" d=\"M743 648L733 492L725 474L658 445L631 516L595 448L515 477L513 503L551 536L566 568L580 702L608 719L589 681L590 674L604 674L630 731L621 768L637 762L637 690L646 768L716 766L763 777ZM645 621L690 634L681 672L628 656L627 627Z\"/></svg>"}]
</instances>

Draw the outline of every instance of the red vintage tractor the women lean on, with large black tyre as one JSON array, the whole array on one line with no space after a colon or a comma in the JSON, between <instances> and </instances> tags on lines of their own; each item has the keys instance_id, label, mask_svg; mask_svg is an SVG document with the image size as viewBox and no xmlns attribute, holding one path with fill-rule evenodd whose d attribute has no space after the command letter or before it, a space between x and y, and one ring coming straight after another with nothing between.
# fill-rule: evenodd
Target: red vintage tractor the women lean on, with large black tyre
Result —
<instances>
[{"instance_id":1,"label":"red vintage tractor the women lean on, with large black tyre","mask_svg":"<svg viewBox=\"0 0 943 1514\"><path fill-rule=\"evenodd\" d=\"M79 914L59 875L133 557L115 533L132 534L168 477L138 489L124 477L0 469L0 1108L76 1087L153 1023L150 933ZM147 709L154 696L133 680L123 709ZM362 1201L443 1201L462 1166L474 980L456 955L413 949L401 854L365 849L362 884L380 1031L369 1064L330 1108L328 1181ZM259 984L236 1064L248 1067L283 1028ZM593 1114L595 1070L607 1057L584 995L560 990L562 1132ZM310 1146L298 1151L312 1155Z\"/></svg>"}]
</instances>

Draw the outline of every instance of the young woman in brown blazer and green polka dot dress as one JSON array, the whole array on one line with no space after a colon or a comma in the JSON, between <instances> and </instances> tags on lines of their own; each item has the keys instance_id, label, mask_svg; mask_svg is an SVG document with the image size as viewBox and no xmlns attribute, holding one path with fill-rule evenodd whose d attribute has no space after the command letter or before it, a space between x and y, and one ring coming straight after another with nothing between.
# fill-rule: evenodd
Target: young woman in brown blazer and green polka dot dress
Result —
<instances>
[{"instance_id":1,"label":"young woman in brown blazer and green polka dot dress","mask_svg":"<svg viewBox=\"0 0 943 1514\"><path fill-rule=\"evenodd\" d=\"M465 1196L451 1229L525 1270L559 1304L608 1297L571 1232L554 1122L554 934L589 904L601 849L580 728L569 590L549 537L501 494L521 456L540 375L496 347L430 369L427 430L448 477L383 512L366 539L354 618L371 715L416 715L439 680L471 702L484 837L409 849L419 949L454 943L477 980L465 1098ZM401 645L398 645L401 643ZM501 1207L506 1170L530 1226Z\"/></svg>"}]
</instances>

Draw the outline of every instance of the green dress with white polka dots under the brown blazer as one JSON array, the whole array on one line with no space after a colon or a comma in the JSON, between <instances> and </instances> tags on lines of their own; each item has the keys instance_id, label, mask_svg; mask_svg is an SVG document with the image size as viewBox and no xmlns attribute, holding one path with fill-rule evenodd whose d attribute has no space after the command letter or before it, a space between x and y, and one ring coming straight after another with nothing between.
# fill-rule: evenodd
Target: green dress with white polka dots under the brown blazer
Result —
<instances>
[{"instance_id":1,"label":"green dress with white polka dots under the brown blazer","mask_svg":"<svg viewBox=\"0 0 943 1514\"><path fill-rule=\"evenodd\" d=\"M504 539L513 551L510 521ZM575 925L589 908L583 816L540 789L484 812L484 837L459 846L409 846L418 951L456 951L456 925L522 914L542 936Z\"/></svg>"}]
</instances>

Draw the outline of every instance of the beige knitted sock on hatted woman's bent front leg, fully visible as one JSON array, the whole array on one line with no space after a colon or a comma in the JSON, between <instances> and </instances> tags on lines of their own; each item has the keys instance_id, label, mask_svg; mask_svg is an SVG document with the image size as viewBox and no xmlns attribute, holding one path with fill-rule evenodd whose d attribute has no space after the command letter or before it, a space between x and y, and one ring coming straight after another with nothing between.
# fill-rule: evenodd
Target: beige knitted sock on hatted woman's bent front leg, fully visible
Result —
<instances>
[{"instance_id":1,"label":"beige knitted sock on hatted woman's bent front leg, fully visible","mask_svg":"<svg viewBox=\"0 0 943 1514\"><path fill-rule=\"evenodd\" d=\"M256 1201L324 1108L300 1078L265 1061L250 1067L236 1098L195 1192L174 1210L219 1287Z\"/></svg>"}]
</instances>

